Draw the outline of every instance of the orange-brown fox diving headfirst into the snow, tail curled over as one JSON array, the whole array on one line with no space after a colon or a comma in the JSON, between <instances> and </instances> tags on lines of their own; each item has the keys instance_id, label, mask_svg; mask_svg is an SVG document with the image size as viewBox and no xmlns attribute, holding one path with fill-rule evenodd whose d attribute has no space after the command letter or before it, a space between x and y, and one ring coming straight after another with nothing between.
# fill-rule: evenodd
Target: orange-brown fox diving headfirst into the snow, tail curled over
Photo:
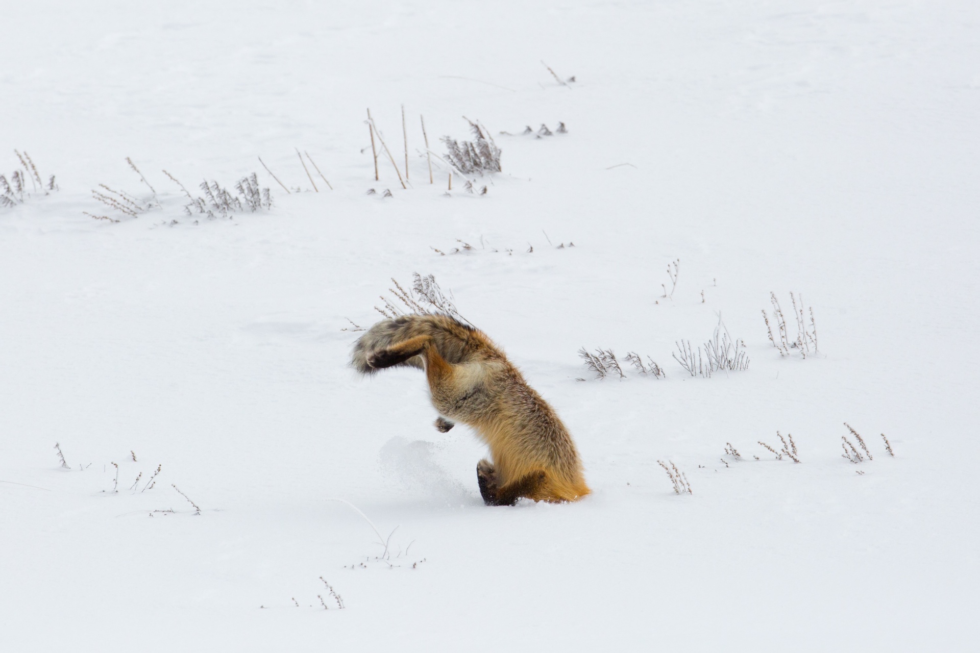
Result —
<instances>
[{"instance_id":1,"label":"orange-brown fox diving headfirst into the snow, tail curled over","mask_svg":"<svg viewBox=\"0 0 980 653\"><path fill-rule=\"evenodd\" d=\"M411 366L425 371L437 429L472 427L493 462L476 465L487 505L575 501L590 492L571 436L555 410L486 334L443 314L404 315L378 322L354 346L362 374Z\"/></svg>"}]
</instances>

